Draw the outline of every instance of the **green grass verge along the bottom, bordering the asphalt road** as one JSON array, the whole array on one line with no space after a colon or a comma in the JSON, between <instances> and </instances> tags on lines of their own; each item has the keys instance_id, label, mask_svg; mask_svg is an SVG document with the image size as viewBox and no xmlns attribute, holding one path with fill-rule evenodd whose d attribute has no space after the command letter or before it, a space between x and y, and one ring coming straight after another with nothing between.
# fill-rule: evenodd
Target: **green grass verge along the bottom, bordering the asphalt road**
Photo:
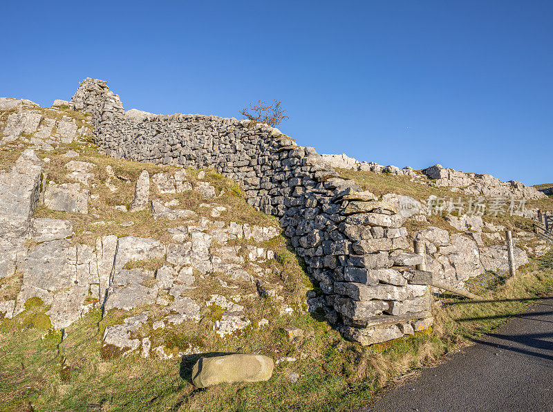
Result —
<instances>
[{"instance_id":1,"label":"green grass verge along the bottom, bordering the asphalt road","mask_svg":"<svg viewBox=\"0 0 553 412\"><path fill-rule=\"evenodd\" d=\"M349 410L372 402L389 380L432 364L444 353L497 328L525 310L533 298L551 296L552 288L553 270L533 265L489 292L490 301L434 308L435 325L430 331L369 348L344 341L324 321L299 312L227 341L200 330L201 326L198 335L171 328L156 331L155 339L164 339L168 353L200 346L209 353L297 359L275 366L268 382L201 390L190 383L198 356L182 362L142 359L138 354L103 359L102 326L107 323L100 322L100 311L68 328L64 341L59 333L45 335L37 328L13 326L0 334L0 409L24 411L32 404L35 410L75 411L86 411L89 405L100 405L102 411ZM263 300L259 306L270 310ZM120 321L124 314L114 315ZM305 330L306 336L289 341L280 328L290 324ZM291 371L301 375L297 384L288 380Z\"/></svg>"}]
</instances>

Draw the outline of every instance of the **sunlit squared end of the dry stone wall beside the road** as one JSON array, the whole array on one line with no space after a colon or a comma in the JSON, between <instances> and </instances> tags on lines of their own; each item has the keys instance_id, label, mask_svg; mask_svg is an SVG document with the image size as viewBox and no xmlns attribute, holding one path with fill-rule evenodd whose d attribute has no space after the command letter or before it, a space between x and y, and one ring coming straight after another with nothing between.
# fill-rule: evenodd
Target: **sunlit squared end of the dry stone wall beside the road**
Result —
<instances>
[{"instance_id":1,"label":"sunlit squared end of the dry stone wall beside the road","mask_svg":"<svg viewBox=\"0 0 553 412\"><path fill-rule=\"evenodd\" d=\"M326 300L341 315L341 333L374 344L427 328L431 274L415 270L422 256L411 252L405 218L368 192L339 197L345 216L339 229L352 243L347 251L328 245L323 264L334 280Z\"/></svg>"}]
</instances>

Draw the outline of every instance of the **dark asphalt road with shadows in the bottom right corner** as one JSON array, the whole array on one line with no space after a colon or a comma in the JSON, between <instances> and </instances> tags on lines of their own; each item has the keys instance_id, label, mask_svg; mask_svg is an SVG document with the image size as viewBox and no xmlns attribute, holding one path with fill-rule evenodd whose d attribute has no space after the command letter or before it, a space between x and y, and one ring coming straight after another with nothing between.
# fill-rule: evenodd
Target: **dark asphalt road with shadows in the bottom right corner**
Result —
<instances>
[{"instance_id":1,"label":"dark asphalt road with shadows in the bottom right corner","mask_svg":"<svg viewBox=\"0 0 553 412\"><path fill-rule=\"evenodd\" d=\"M553 411L553 298L420 375L366 411Z\"/></svg>"}]
</instances>

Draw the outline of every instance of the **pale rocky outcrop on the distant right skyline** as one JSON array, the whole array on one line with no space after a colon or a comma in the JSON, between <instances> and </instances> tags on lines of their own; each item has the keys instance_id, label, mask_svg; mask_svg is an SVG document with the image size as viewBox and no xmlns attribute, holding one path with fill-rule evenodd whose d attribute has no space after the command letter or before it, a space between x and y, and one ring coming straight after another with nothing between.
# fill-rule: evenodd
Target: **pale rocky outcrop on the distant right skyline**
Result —
<instances>
[{"instance_id":1,"label":"pale rocky outcrop on the distant right skyline","mask_svg":"<svg viewBox=\"0 0 553 412\"><path fill-rule=\"evenodd\" d=\"M526 186L516 180L502 182L489 174L463 173L442 165L433 165L422 171L439 187L449 187L454 191L473 196L495 198L539 199L545 194L535 187Z\"/></svg>"}]
</instances>

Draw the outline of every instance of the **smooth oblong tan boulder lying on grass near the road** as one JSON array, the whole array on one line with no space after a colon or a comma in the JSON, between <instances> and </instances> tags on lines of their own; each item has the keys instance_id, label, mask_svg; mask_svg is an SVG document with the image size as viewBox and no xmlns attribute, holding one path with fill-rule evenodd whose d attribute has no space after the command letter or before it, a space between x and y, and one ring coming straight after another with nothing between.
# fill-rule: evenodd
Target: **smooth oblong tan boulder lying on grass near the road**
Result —
<instances>
[{"instance_id":1,"label":"smooth oblong tan boulder lying on grass near the road","mask_svg":"<svg viewBox=\"0 0 553 412\"><path fill-rule=\"evenodd\" d=\"M263 355L200 357L192 369L192 384L206 388L223 382L259 382L272 376L274 362Z\"/></svg>"}]
</instances>

